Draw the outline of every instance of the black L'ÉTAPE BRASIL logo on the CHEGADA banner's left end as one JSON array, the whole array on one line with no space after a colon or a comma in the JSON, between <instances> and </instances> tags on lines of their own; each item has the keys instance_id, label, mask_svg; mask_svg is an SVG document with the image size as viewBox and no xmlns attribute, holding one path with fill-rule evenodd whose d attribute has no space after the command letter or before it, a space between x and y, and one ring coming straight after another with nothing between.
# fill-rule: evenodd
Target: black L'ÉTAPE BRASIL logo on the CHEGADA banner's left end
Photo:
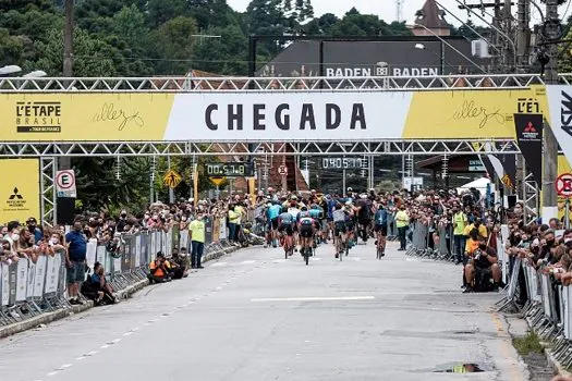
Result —
<instances>
[{"instance_id":1,"label":"black L'\u00c9TAPE BRASIL logo on the CHEGADA banner's left end","mask_svg":"<svg viewBox=\"0 0 572 381\"><path fill-rule=\"evenodd\" d=\"M60 133L62 107L58 101L16 102L19 133Z\"/></svg>"}]
</instances>

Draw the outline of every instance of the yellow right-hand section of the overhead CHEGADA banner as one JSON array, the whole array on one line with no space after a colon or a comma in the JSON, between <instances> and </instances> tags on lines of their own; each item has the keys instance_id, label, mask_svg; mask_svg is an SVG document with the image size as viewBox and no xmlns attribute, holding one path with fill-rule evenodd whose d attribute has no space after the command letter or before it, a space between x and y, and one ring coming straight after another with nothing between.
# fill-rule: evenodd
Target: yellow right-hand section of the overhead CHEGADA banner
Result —
<instances>
[{"instance_id":1,"label":"yellow right-hand section of the overhead CHEGADA banner","mask_svg":"<svg viewBox=\"0 0 572 381\"><path fill-rule=\"evenodd\" d=\"M403 131L407 139L515 138L514 113L540 113L544 87L515 90L415 91Z\"/></svg>"}]
</instances>

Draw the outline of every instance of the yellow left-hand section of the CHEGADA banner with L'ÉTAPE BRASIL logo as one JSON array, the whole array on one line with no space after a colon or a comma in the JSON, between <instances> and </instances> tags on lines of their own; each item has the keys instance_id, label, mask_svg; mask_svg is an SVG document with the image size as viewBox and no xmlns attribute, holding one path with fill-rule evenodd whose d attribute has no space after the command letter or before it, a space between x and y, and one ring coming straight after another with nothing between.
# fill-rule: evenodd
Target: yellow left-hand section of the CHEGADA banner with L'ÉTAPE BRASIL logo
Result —
<instances>
[{"instance_id":1,"label":"yellow left-hand section of the CHEGADA banner with L'\u00c9TAPE BRASIL logo","mask_svg":"<svg viewBox=\"0 0 572 381\"><path fill-rule=\"evenodd\" d=\"M162 140L172 94L8 94L2 142Z\"/></svg>"}]
</instances>

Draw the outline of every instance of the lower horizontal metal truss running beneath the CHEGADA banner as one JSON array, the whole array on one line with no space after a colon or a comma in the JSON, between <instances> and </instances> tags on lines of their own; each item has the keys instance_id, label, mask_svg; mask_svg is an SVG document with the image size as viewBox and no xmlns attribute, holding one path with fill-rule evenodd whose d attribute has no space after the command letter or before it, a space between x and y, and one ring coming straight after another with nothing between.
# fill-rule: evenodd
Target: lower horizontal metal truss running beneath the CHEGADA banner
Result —
<instances>
[{"instance_id":1,"label":"lower horizontal metal truss running beneath the CHEGADA banner","mask_svg":"<svg viewBox=\"0 0 572 381\"><path fill-rule=\"evenodd\" d=\"M0 142L0 158L141 157L141 156L443 156L509 155L521 151L514 140L385 140L337 143L268 142Z\"/></svg>"}]
</instances>

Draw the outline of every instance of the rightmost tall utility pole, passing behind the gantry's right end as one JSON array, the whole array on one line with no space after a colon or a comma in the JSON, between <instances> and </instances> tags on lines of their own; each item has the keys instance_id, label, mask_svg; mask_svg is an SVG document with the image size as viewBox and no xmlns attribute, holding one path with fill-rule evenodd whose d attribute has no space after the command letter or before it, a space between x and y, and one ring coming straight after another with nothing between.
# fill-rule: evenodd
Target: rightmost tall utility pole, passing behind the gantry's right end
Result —
<instances>
[{"instance_id":1,"label":"rightmost tall utility pole, passing behind the gantry's right end","mask_svg":"<svg viewBox=\"0 0 572 381\"><path fill-rule=\"evenodd\" d=\"M546 0L546 25L560 25L558 19L558 0ZM548 28L546 28L548 29ZM543 39L551 39L547 36L552 30L546 30ZM547 33L548 32L548 33ZM557 37L557 36L555 36ZM557 37L558 39L560 37ZM547 85L558 84L558 46L549 44L547 53L550 58L545 73ZM556 126L551 126L552 128ZM546 223L550 218L558 218L558 198L555 188L555 181L558 176L558 142L552 130L544 128L544 172L543 172L543 222Z\"/></svg>"}]
</instances>

